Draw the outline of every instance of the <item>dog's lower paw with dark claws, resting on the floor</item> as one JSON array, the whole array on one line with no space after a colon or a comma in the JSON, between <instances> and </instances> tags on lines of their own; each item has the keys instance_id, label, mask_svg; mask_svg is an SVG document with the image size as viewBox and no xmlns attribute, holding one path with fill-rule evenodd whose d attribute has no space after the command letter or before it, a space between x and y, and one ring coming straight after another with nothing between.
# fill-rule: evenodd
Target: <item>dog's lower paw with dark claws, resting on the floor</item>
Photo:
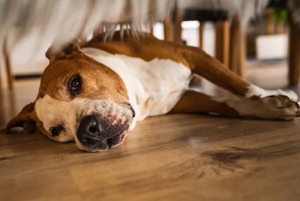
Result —
<instances>
[{"instance_id":1,"label":"dog's lower paw with dark claws, resting on the floor","mask_svg":"<svg viewBox=\"0 0 300 201\"><path fill-rule=\"evenodd\" d=\"M300 106L286 95L251 96L245 105L248 116L262 119L292 120L300 116ZM246 115L245 115L246 116Z\"/></svg>"}]
</instances>

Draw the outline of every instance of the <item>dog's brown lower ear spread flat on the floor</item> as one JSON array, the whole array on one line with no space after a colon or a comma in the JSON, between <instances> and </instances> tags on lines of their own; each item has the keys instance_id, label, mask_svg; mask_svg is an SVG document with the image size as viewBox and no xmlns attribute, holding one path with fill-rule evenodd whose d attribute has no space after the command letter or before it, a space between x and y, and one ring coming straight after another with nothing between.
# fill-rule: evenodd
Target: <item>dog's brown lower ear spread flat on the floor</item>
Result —
<instances>
[{"instance_id":1,"label":"dog's brown lower ear spread flat on the floor","mask_svg":"<svg viewBox=\"0 0 300 201\"><path fill-rule=\"evenodd\" d=\"M5 133L10 132L14 127L22 127L23 132L28 134L36 130L37 117L33 111L34 103L26 105L20 113L12 118L6 125Z\"/></svg>"}]
</instances>

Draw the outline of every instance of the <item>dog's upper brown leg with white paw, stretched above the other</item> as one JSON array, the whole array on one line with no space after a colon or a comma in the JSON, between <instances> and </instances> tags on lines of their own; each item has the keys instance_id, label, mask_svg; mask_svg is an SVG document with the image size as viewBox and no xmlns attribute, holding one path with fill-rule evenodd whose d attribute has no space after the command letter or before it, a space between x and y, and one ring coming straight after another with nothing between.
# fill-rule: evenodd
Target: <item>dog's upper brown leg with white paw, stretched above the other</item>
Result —
<instances>
[{"instance_id":1,"label":"dog's upper brown leg with white paw, stretched above the other","mask_svg":"<svg viewBox=\"0 0 300 201\"><path fill-rule=\"evenodd\" d=\"M294 101L296 101L298 98L297 95L290 90L264 90L243 80L226 68L217 59L206 54L199 48L183 45L181 48L182 54L189 63L193 73L206 78L212 83L240 97L250 97L252 95L260 95L261 97L269 95L286 95Z\"/></svg>"}]
</instances>

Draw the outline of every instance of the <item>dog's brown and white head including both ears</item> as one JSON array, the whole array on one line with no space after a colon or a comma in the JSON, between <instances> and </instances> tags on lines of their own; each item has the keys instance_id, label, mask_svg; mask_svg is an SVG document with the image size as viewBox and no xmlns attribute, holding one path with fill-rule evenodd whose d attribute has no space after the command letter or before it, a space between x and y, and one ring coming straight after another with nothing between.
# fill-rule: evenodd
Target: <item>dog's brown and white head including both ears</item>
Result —
<instances>
[{"instance_id":1,"label":"dog's brown and white head including both ears","mask_svg":"<svg viewBox=\"0 0 300 201\"><path fill-rule=\"evenodd\" d=\"M104 151L124 141L135 116L116 72L84 55L77 43L46 52L39 92L6 126L25 133L38 129L58 142L75 140L79 149Z\"/></svg>"}]
</instances>

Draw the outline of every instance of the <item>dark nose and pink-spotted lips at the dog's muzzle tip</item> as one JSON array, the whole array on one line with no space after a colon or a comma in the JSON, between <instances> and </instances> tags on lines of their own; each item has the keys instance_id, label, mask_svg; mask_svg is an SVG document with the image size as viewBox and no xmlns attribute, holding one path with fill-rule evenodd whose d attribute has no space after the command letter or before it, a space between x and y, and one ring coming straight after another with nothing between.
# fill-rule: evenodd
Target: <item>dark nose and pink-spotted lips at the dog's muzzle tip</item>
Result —
<instances>
[{"instance_id":1,"label":"dark nose and pink-spotted lips at the dog's muzzle tip","mask_svg":"<svg viewBox=\"0 0 300 201\"><path fill-rule=\"evenodd\" d=\"M123 142L131 118L115 115L113 118L85 116L77 129L77 139L89 151L104 151Z\"/></svg>"}]
</instances>

